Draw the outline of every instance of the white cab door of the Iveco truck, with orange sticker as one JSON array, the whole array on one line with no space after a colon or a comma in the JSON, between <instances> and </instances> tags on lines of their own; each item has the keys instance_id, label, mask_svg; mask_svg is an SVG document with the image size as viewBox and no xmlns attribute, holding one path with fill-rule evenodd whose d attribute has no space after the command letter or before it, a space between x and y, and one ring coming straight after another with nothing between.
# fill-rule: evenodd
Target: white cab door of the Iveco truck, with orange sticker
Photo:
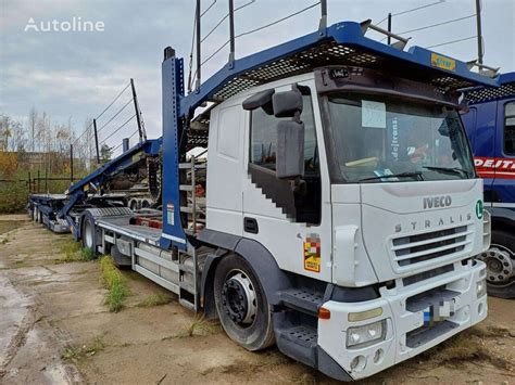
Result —
<instances>
[{"instance_id":1,"label":"white cab door of the Iveco truck, with orange sticker","mask_svg":"<svg viewBox=\"0 0 515 385\"><path fill-rule=\"evenodd\" d=\"M303 94L304 193L275 176L277 124L265 108L247 112L247 175L243 180L243 236L265 246L287 271L331 279L330 190L314 85L299 82ZM290 90L291 86L276 89Z\"/></svg>"}]
</instances>

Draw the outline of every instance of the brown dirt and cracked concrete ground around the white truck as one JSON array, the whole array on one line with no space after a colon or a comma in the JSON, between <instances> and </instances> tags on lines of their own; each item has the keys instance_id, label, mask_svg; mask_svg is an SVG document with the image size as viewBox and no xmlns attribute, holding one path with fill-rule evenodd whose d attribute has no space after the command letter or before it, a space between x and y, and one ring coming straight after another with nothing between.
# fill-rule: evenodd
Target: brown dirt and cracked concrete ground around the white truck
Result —
<instances>
[{"instance_id":1,"label":"brown dirt and cracked concrete ground around the white truck","mask_svg":"<svg viewBox=\"0 0 515 385\"><path fill-rule=\"evenodd\" d=\"M252 354L124 271L131 295L109 312L97 261L64 262L71 235L0 216L0 383L335 383L282 356ZM515 383L515 301L489 299L479 326L364 384Z\"/></svg>"}]
</instances>

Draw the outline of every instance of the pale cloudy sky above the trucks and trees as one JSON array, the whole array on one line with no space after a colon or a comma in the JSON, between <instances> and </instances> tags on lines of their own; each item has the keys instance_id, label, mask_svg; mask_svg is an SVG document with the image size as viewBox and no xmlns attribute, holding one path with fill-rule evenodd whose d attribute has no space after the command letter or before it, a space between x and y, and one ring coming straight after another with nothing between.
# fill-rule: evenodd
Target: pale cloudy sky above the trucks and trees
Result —
<instances>
[{"instance_id":1,"label":"pale cloudy sky above the trucks and trees","mask_svg":"<svg viewBox=\"0 0 515 385\"><path fill-rule=\"evenodd\" d=\"M251 3L236 13L237 35L306 8L316 0L235 0L235 7L248 2ZM391 12L392 30L403 33L475 14L475 0L444 0L402 13L436 2L438 0L328 0L328 24L367 18L379 23ZM227 0L202 0L204 10L213 4L202 17L203 37L227 13ZM47 112L53 121L71 119L76 132L81 132L86 119L98 116L134 78L147 132L150 138L160 137L163 49L172 46L178 56L185 57L187 67L193 14L193 0L0 0L0 113L26 121L28 111L35 106L39 112ZM482 0L481 15L485 64L501 67L502 72L515 70L515 0ZM83 23L101 22L103 30L27 28L30 18L40 27L39 23L70 22L73 17L79 17ZM236 55L242 57L316 30L318 18L319 9L315 7L284 23L243 36L236 41ZM380 25L386 27L386 22ZM412 37L410 46L428 47L475 35L476 18L468 17L403 36ZM203 59L227 37L226 21L205 39ZM476 39L431 50L464 61L477 57ZM227 57L228 48L225 48L210 60L202 67L203 79L219 69ZM127 90L99 118L99 125L106 123L128 100ZM131 114L134 110L129 104L106 126L105 134L109 128L114 129ZM129 132L134 124L130 121L125 132ZM123 134L121 131L110 138L109 144L116 145Z\"/></svg>"}]
</instances>

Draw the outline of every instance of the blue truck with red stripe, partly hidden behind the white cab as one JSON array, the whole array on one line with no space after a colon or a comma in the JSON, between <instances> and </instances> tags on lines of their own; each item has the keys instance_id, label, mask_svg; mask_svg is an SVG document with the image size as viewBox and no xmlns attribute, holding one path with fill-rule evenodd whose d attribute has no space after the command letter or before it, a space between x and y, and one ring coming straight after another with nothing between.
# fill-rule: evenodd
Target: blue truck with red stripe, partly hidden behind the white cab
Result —
<instances>
[{"instance_id":1,"label":"blue truck with red stripe, partly hidden behind the white cab","mask_svg":"<svg viewBox=\"0 0 515 385\"><path fill-rule=\"evenodd\" d=\"M485 206L491 214L487 264L488 293L515 297L515 72L502 74L499 88L479 87L465 93L462 116L478 176L485 180Z\"/></svg>"}]
</instances>

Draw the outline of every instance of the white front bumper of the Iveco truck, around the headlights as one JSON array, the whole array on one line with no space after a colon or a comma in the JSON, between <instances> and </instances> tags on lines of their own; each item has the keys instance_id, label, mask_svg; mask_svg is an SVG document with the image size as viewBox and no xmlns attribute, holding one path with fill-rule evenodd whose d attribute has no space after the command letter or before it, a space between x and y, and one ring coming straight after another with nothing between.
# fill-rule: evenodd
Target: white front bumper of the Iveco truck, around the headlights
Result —
<instances>
[{"instance_id":1,"label":"white front bumper of the Iveco truck, around the headlights","mask_svg":"<svg viewBox=\"0 0 515 385\"><path fill-rule=\"evenodd\" d=\"M476 282L483 280L485 274L485 264L480 261L468 260L465 266L457 261L453 264L453 271L410 285L398 279L395 287L384 287L377 299L326 301L323 307L330 311L330 319L318 320L318 346L354 380L380 372L483 320L488 312L487 296L477 297ZM448 317L435 322L428 320L431 316L427 309L443 305L451 310ZM379 307L380 316L349 321L351 312ZM386 320L387 324L384 341L361 348L347 347L349 328L379 320Z\"/></svg>"}]
</instances>

